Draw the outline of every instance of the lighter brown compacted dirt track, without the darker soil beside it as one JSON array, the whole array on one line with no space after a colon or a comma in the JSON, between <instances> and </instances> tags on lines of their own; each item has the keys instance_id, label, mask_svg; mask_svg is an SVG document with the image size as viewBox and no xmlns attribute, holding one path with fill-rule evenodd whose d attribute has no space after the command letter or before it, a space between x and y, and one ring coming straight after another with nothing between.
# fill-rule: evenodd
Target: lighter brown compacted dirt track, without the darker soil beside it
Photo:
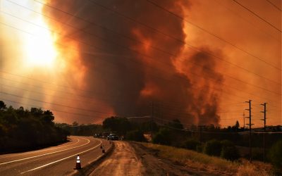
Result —
<instances>
[{"instance_id":1,"label":"lighter brown compacted dirt track, without the darker soil beside it","mask_svg":"<svg viewBox=\"0 0 282 176\"><path fill-rule=\"evenodd\" d=\"M114 152L90 175L142 175L143 165L128 142L115 141Z\"/></svg>"}]
</instances>

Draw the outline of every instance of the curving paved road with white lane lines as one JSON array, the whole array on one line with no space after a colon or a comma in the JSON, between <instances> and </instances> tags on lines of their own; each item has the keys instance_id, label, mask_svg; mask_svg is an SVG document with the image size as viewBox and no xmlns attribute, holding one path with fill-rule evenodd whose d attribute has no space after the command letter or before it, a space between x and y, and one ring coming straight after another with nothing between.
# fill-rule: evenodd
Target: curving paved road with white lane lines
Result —
<instances>
[{"instance_id":1,"label":"curving paved road with white lane lines","mask_svg":"<svg viewBox=\"0 0 282 176\"><path fill-rule=\"evenodd\" d=\"M71 142L37 151L0 155L0 175L72 175L77 155L82 169L102 156L100 145L110 145L105 139L70 137Z\"/></svg>"}]
</instances>

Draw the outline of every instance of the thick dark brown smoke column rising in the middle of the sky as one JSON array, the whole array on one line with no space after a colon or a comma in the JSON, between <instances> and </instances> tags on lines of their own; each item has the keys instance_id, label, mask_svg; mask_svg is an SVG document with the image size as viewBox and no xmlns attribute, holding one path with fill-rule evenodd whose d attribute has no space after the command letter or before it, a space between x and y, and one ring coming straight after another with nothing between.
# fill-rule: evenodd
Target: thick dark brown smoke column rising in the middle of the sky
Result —
<instances>
[{"instance_id":1,"label":"thick dark brown smoke column rising in the middle of the sky","mask_svg":"<svg viewBox=\"0 0 282 176\"><path fill-rule=\"evenodd\" d=\"M216 73L217 63L211 56L185 48L181 42L186 37L183 20L142 0L48 4L44 13L65 23L47 19L54 30L63 33L58 42L78 44L78 57L85 71L84 89L91 91L84 92L85 96L95 97L116 115L149 115L151 102L161 101L161 118L218 124L220 91L214 88L219 88L217 84L223 78ZM179 15L190 7L185 1L158 4ZM91 103L84 106L99 108ZM155 111L160 114L159 109Z\"/></svg>"}]
</instances>

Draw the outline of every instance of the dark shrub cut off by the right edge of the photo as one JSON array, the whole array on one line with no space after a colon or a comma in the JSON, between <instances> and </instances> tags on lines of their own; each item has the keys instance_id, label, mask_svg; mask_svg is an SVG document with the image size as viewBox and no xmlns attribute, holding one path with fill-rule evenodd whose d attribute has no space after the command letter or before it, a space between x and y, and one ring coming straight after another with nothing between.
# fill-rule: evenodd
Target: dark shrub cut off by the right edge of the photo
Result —
<instances>
[{"instance_id":1,"label":"dark shrub cut off by the right edge of the photo","mask_svg":"<svg viewBox=\"0 0 282 176\"><path fill-rule=\"evenodd\" d=\"M282 140L276 142L269 150L269 160L275 168L282 168Z\"/></svg>"}]
</instances>

